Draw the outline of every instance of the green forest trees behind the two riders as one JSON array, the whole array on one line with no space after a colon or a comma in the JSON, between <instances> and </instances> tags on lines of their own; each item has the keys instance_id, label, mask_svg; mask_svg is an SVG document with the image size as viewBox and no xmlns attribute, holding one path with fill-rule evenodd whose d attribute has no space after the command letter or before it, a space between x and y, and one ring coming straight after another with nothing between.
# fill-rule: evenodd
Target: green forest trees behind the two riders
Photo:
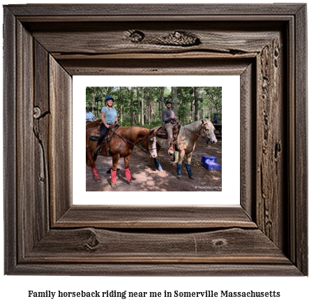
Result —
<instances>
[{"instance_id":1,"label":"green forest trees behind the two riders","mask_svg":"<svg viewBox=\"0 0 309 306\"><path fill-rule=\"evenodd\" d=\"M163 124L161 114L168 99L183 124L206 117L213 120L215 114L222 124L222 87L86 87L86 106L98 119L106 96L114 98L121 126Z\"/></svg>"}]
</instances>

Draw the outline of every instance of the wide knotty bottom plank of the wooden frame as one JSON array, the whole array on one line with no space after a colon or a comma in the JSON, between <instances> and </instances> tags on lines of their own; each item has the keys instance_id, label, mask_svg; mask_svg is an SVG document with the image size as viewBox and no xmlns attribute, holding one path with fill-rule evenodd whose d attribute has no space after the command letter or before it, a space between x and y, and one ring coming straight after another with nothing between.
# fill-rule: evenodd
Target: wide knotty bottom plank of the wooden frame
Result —
<instances>
[{"instance_id":1,"label":"wide knotty bottom plank of the wooden frame","mask_svg":"<svg viewBox=\"0 0 309 306\"><path fill-rule=\"evenodd\" d=\"M151 234L148 231L107 231L99 228L52 230L33 247L23 262L32 261L289 264L280 249L261 231L241 228L208 233L165 230Z\"/></svg>"}]
</instances>

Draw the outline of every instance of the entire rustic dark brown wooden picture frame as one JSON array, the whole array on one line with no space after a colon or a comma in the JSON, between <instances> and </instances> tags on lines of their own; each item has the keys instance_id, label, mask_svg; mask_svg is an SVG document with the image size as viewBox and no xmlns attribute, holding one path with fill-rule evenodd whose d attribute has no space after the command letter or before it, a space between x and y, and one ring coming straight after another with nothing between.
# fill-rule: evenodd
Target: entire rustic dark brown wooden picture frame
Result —
<instances>
[{"instance_id":1,"label":"entire rustic dark brown wooden picture frame","mask_svg":"<svg viewBox=\"0 0 309 306\"><path fill-rule=\"evenodd\" d=\"M306 40L306 4L4 6L5 273L308 275ZM73 205L72 75L240 75L241 205Z\"/></svg>"}]
</instances>

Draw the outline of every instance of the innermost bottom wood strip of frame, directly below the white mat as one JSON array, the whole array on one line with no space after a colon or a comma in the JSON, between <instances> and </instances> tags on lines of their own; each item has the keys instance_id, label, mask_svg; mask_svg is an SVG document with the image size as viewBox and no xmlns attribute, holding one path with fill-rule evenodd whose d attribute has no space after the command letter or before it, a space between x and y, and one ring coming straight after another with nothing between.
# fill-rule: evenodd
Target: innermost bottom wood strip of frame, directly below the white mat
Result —
<instances>
[{"instance_id":1,"label":"innermost bottom wood strip of frame, directly below the white mat","mask_svg":"<svg viewBox=\"0 0 309 306\"><path fill-rule=\"evenodd\" d=\"M257 228L240 205L73 205L55 227Z\"/></svg>"}]
</instances>

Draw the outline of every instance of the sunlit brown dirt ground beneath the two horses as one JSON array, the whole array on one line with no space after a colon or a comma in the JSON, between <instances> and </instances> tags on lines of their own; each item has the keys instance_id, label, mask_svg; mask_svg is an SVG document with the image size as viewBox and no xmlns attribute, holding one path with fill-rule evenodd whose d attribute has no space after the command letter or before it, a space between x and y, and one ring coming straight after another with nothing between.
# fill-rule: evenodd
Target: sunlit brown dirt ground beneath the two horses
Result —
<instances>
[{"instance_id":1,"label":"sunlit brown dirt ground beneath the two horses","mask_svg":"<svg viewBox=\"0 0 309 306\"><path fill-rule=\"evenodd\" d=\"M221 191L222 170L207 170L202 166L202 155L217 157L217 163L222 166L222 140L216 145L207 145L205 138L197 140L191 162L191 170L195 180L190 180L185 163L181 168L181 179L176 175L176 163L172 161L165 150L160 150L159 159L163 170L155 169L153 159L135 147L130 160L132 182L128 184L123 172L123 158L119 160L116 187L110 187L112 157L98 156L96 160L101 180L95 181L91 168L86 167L86 191Z\"/></svg>"}]
</instances>

